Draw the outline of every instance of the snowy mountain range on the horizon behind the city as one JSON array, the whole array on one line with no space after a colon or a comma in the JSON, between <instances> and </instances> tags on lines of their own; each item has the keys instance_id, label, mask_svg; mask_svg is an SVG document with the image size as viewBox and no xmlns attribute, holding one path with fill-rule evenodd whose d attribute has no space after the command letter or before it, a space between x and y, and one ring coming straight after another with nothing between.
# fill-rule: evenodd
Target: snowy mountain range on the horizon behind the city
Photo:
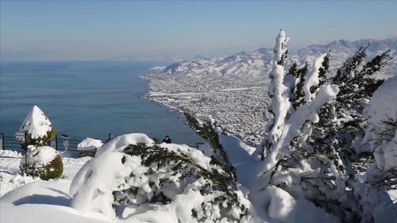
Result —
<instances>
[{"instance_id":1,"label":"snowy mountain range on the horizon behind the city","mask_svg":"<svg viewBox=\"0 0 397 223\"><path fill-rule=\"evenodd\" d=\"M397 38L387 40L357 40L349 42L347 40L337 40L328 45L311 45L296 52L289 51L286 58L286 66L296 62L309 65L313 60L331 49L330 70L335 69L345 62L347 57L354 55L359 47L363 47L367 42L371 41L371 46L367 49L367 59L371 59L386 49L391 50L391 55L396 58L397 54ZM273 49L260 48L254 52L239 52L229 57L213 57L203 59L192 59L183 62L171 64L165 69L160 70L160 74L169 74L172 76L203 76L203 77L250 77L269 74L271 61L273 58ZM391 60L385 67L382 74L397 74L397 59Z\"/></svg>"}]
</instances>

